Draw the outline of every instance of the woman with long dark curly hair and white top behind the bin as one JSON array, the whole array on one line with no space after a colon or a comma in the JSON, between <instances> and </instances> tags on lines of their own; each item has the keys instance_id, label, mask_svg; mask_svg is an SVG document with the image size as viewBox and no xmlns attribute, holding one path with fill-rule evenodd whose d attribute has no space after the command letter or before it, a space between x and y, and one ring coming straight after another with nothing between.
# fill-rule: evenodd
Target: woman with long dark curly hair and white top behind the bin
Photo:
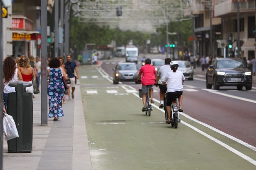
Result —
<instances>
[{"instance_id":1,"label":"woman with long dark curly hair and white top behind the bin","mask_svg":"<svg viewBox=\"0 0 256 170\"><path fill-rule=\"evenodd\" d=\"M7 109L8 106L8 94L15 92L15 87L10 87L9 83L16 82L18 80L22 80L22 75L20 73L20 70L16 68L16 63L12 57L6 57L4 59L4 65L3 65L3 76L4 76L4 103L5 103L5 109Z\"/></svg>"}]
</instances>

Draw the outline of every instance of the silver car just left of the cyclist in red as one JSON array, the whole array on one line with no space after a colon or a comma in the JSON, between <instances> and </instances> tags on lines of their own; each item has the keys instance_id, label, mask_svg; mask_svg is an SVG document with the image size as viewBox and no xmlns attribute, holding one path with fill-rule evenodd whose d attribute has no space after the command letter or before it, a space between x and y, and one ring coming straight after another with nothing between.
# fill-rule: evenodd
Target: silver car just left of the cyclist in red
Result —
<instances>
[{"instance_id":1,"label":"silver car just left of the cyclist in red","mask_svg":"<svg viewBox=\"0 0 256 170\"><path fill-rule=\"evenodd\" d=\"M118 82L132 82L134 81L136 84L139 82L138 74L139 70L135 63L119 63L113 68L113 83L118 84Z\"/></svg>"}]
</instances>

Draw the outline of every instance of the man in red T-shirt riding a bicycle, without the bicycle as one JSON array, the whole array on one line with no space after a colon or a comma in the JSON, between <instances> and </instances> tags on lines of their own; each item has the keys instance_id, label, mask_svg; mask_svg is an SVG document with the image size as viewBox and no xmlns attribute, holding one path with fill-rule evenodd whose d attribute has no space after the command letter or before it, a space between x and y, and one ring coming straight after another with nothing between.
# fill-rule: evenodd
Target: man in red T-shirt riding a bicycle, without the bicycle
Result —
<instances>
[{"instance_id":1,"label":"man in red T-shirt riding a bicycle, without the bicycle","mask_svg":"<svg viewBox=\"0 0 256 170\"><path fill-rule=\"evenodd\" d=\"M148 92L147 85L151 85L150 98L151 98L151 103L154 103L152 87L155 84L157 74L156 74L155 67L150 64L151 64L151 60L146 59L145 65L140 68L140 72L138 75L138 80L141 79L141 82L142 82L142 88L141 88L142 102L143 102L142 111L146 110L146 93ZM141 74L142 74L142 78L141 78Z\"/></svg>"}]
</instances>

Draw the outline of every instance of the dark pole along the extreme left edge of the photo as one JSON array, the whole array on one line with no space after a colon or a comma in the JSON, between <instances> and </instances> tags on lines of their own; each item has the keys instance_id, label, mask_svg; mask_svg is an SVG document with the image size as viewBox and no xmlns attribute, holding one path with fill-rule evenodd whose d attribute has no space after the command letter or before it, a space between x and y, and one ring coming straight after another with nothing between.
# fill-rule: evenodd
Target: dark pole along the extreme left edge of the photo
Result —
<instances>
[{"instance_id":1,"label":"dark pole along the extreme left edge of the photo","mask_svg":"<svg viewBox=\"0 0 256 170\"><path fill-rule=\"evenodd\" d=\"M2 1L0 0L0 120L3 119L3 20L2 20ZM3 169L3 123L0 123L0 170Z\"/></svg>"}]
</instances>

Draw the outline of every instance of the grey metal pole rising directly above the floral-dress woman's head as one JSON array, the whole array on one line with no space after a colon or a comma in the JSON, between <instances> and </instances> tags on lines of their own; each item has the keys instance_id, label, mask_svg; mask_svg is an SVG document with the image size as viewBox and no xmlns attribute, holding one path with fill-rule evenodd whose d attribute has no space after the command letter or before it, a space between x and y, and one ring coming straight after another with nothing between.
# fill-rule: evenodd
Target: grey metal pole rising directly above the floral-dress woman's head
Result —
<instances>
[{"instance_id":1,"label":"grey metal pole rising directly above the floral-dress woman's head","mask_svg":"<svg viewBox=\"0 0 256 170\"><path fill-rule=\"evenodd\" d=\"M59 57L59 0L54 1L54 57Z\"/></svg>"}]
</instances>

